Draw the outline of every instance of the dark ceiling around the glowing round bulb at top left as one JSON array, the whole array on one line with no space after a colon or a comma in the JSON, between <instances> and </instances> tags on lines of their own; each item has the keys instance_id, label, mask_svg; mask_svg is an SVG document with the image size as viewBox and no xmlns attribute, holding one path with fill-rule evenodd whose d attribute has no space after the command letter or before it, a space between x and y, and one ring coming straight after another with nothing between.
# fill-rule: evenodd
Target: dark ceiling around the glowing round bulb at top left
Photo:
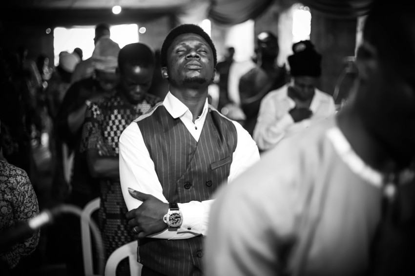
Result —
<instances>
[{"instance_id":1,"label":"dark ceiling around the glowing round bulb at top left","mask_svg":"<svg viewBox=\"0 0 415 276\"><path fill-rule=\"evenodd\" d=\"M131 21L145 22L179 13L192 0L14 0L1 9L4 23L34 25L111 24ZM200 1L200 0L196 0ZM114 5L123 11L112 13Z\"/></svg>"}]
</instances>

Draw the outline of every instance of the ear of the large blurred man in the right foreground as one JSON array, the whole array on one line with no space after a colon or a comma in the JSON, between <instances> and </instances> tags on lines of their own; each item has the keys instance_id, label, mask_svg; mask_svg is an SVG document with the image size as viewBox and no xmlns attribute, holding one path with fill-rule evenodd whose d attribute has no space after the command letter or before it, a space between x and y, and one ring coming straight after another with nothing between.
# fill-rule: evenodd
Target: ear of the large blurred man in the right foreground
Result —
<instances>
[{"instance_id":1,"label":"ear of the large blurred man in the right foreground","mask_svg":"<svg viewBox=\"0 0 415 276\"><path fill-rule=\"evenodd\" d=\"M377 50L369 42L362 42L357 49L356 66L360 79L368 79L377 68Z\"/></svg>"}]
</instances>

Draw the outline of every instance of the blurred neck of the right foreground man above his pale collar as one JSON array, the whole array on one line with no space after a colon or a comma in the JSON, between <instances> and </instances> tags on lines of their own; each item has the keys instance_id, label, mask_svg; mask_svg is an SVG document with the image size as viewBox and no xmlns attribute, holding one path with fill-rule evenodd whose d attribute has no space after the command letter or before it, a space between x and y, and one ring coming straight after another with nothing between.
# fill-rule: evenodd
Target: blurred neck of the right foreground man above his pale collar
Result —
<instances>
[{"instance_id":1,"label":"blurred neck of the right foreground man above his pale collar","mask_svg":"<svg viewBox=\"0 0 415 276\"><path fill-rule=\"evenodd\" d=\"M337 115L337 123L353 151L369 166L382 172L396 171L397 164L385 147L363 124L353 105L345 106Z\"/></svg>"}]
</instances>

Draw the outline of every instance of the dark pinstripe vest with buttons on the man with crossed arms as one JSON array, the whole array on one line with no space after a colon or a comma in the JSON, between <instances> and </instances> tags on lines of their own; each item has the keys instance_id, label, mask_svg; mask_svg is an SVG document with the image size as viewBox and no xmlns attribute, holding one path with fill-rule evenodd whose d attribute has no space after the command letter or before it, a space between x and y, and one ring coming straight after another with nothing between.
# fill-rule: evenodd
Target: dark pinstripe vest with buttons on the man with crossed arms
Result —
<instances>
[{"instance_id":1,"label":"dark pinstripe vest with buttons on the man with crossed arms","mask_svg":"<svg viewBox=\"0 0 415 276\"><path fill-rule=\"evenodd\" d=\"M237 144L233 123L209 107L197 142L180 118L162 104L137 121L168 202L210 199L229 176ZM202 274L202 235L188 239L139 240L138 259L164 275Z\"/></svg>"}]
</instances>

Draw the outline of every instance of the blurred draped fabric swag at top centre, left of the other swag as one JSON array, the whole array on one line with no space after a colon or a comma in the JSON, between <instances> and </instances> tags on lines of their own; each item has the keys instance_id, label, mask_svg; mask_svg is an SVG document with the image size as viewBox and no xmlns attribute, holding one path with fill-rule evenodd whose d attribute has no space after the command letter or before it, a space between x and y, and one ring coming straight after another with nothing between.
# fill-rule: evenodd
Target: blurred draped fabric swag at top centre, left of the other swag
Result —
<instances>
[{"instance_id":1,"label":"blurred draped fabric swag at top centre, left of the other swag","mask_svg":"<svg viewBox=\"0 0 415 276\"><path fill-rule=\"evenodd\" d=\"M212 0L209 17L221 25L235 25L254 19L274 0Z\"/></svg>"}]
</instances>

